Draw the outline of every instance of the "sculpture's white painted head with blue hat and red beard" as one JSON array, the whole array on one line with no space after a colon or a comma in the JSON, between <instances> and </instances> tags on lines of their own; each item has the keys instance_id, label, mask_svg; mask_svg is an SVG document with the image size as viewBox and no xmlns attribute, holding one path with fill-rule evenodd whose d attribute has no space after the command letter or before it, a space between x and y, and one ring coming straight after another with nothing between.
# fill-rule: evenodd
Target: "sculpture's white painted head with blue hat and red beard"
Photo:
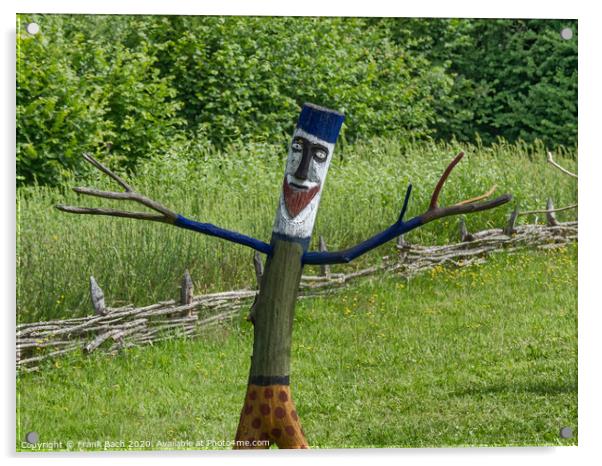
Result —
<instances>
[{"instance_id":1,"label":"sculpture's white painted head with blue hat and red beard","mask_svg":"<svg viewBox=\"0 0 602 466\"><path fill-rule=\"evenodd\" d=\"M303 105L289 147L274 233L300 240L311 237L344 118L334 110Z\"/></svg>"}]
</instances>

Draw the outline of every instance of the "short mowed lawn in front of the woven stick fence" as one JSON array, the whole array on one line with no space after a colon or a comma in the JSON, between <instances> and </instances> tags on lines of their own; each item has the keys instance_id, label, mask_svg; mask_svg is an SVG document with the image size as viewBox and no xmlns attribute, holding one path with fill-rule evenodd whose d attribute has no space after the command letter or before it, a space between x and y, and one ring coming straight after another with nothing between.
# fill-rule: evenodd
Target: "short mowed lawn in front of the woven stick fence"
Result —
<instances>
[{"instance_id":1,"label":"short mowed lawn in front of the woven stick fence","mask_svg":"<svg viewBox=\"0 0 602 466\"><path fill-rule=\"evenodd\" d=\"M576 246L500 253L409 283L374 276L300 300L291 381L310 445L575 445L559 430L577 434L576 265ZM195 340L22 374L17 448L29 431L73 449L229 448L251 347L241 316Z\"/></svg>"}]
</instances>

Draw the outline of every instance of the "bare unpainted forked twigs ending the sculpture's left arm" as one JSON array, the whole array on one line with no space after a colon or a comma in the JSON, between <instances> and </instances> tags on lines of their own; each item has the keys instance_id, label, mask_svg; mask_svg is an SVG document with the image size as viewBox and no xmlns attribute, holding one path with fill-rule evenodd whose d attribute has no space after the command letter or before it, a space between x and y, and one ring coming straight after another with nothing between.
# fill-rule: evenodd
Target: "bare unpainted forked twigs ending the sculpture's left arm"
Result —
<instances>
[{"instance_id":1,"label":"bare unpainted forked twigs ending the sculpture's left arm","mask_svg":"<svg viewBox=\"0 0 602 466\"><path fill-rule=\"evenodd\" d=\"M154 222L163 222L170 224L173 224L176 221L177 214L175 212L171 211L162 204L159 204L157 201L149 199L148 197L135 192L129 184L127 184L124 180L122 180L119 176L117 176L115 173L113 173L111 170L109 170L91 155L84 154L83 157L88 163L90 163L98 170L103 172L105 175L109 176L115 182L117 182L117 184L119 184L125 190L125 192L100 191L94 188L78 187L73 188L73 190L76 193L84 194L87 196L101 197L103 199L134 201L138 204L148 207L149 209L154 210L155 212L158 212L158 214L153 214L150 212L109 209L104 207L76 207L70 205L57 205L56 208L58 210L72 214L109 215L112 217L126 217L138 220L150 220Z\"/></svg>"}]
</instances>

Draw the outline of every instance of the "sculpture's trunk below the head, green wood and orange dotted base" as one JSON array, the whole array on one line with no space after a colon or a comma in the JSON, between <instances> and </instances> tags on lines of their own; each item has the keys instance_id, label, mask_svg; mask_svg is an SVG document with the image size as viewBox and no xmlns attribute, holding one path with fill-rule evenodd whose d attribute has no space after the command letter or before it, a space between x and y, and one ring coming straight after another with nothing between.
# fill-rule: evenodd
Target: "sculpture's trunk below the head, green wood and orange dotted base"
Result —
<instances>
[{"instance_id":1,"label":"sculpture's trunk below the head, green wood and orange dotted base","mask_svg":"<svg viewBox=\"0 0 602 466\"><path fill-rule=\"evenodd\" d=\"M255 304L255 331L249 384L236 440L242 448L307 448L292 399L291 339L303 248L276 239L267 259ZM256 441L262 441L260 445ZM269 443L267 443L269 442Z\"/></svg>"}]
</instances>

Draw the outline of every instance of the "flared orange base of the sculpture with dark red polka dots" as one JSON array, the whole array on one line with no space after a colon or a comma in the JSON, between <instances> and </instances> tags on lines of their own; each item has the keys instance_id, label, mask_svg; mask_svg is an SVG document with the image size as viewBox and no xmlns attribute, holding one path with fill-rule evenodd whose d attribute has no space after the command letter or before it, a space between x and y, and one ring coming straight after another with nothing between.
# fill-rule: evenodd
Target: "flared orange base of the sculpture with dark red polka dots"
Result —
<instances>
[{"instance_id":1,"label":"flared orange base of the sculpture with dark red polka dots","mask_svg":"<svg viewBox=\"0 0 602 466\"><path fill-rule=\"evenodd\" d=\"M274 443L308 448L288 385L249 385L236 441L235 448L269 448Z\"/></svg>"}]
</instances>

